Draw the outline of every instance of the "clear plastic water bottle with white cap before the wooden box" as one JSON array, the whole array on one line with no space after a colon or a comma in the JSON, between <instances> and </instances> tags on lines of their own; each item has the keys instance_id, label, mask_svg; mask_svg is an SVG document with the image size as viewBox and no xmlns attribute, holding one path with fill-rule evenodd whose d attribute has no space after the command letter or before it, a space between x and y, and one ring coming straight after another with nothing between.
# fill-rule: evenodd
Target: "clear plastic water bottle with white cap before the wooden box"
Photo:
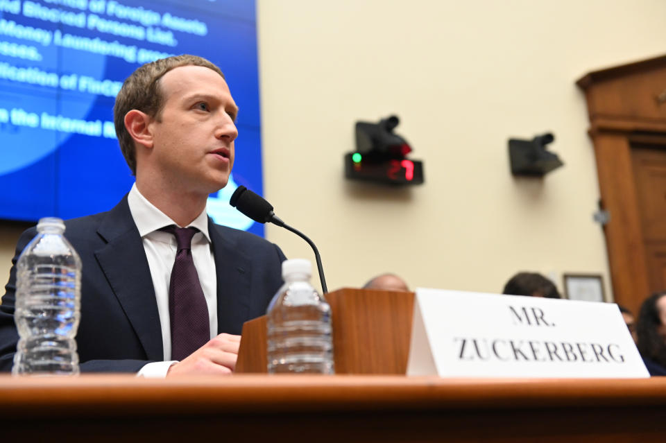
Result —
<instances>
[{"instance_id":1,"label":"clear plastic water bottle with white cap before the wooden box","mask_svg":"<svg viewBox=\"0 0 666 443\"><path fill-rule=\"evenodd\" d=\"M284 285L268 306L268 373L333 374L331 307L310 284L309 261L282 262Z\"/></svg>"}]
</instances>

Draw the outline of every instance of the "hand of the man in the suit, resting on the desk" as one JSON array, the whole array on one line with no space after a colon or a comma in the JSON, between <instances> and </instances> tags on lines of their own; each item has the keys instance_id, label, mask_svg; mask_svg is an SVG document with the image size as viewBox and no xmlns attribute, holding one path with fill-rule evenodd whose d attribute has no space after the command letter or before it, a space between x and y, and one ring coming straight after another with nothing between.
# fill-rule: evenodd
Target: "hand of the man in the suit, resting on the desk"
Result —
<instances>
[{"instance_id":1,"label":"hand of the man in the suit, resting on the desk","mask_svg":"<svg viewBox=\"0 0 666 443\"><path fill-rule=\"evenodd\" d=\"M241 336L221 333L169 367L167 377L186 374L231 374L236 367Z\"/></svg>"}]
</instances>

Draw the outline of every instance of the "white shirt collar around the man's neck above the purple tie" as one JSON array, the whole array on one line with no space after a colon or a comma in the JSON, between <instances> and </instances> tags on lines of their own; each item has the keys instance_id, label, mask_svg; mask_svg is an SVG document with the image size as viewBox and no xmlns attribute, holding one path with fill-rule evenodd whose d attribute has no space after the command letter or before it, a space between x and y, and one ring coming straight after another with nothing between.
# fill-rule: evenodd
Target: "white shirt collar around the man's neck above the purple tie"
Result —
<instances>
[{"instance_id":1,"label":"white shirt collar around the man's neck above the purple tie","mask_svg":"<svg viewBox=\"0 0 666 443\"><path fill-rule=\"evenodd\" d=\"M176 225L178 223L171 220L167 214L157 209L155 205L148 201L147 198L142 196L137 189L137 184L132 185L130 193L127 196L127 203L130 206L130 213L134 219L134 223L139 229L139 235L144 237L151 232L157 231L165 226ZM208 235L208 216L205 209L201 211L201 214L195 218L192 223L183 227L196 227L210 242L210 236Z\"/></svg>"}]
</instances>

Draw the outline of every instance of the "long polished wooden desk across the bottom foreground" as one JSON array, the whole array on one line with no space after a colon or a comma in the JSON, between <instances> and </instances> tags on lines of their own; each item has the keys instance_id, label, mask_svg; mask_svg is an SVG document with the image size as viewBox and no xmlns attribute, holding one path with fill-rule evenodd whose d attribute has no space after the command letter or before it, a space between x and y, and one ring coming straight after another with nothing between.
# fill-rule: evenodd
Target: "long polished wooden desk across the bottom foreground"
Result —
<instances>
[{"instance_id":1,"label":"long polished wooden desk across the bottom foreground","mask_svg":"<svg viewBox=\"0 0 666 443\"><path fill-rule=\"evenodd\" d=\"M665 393L666 379L3 375L0 422L6 442L663 442Z\"/></svg>"}]
</instances>

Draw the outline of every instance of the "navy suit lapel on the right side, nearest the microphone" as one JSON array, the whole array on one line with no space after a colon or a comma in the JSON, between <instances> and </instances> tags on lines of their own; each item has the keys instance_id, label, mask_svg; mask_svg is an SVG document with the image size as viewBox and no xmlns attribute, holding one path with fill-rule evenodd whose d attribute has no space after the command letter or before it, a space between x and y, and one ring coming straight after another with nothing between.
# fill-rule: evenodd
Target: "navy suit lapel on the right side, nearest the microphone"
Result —
<instances>
[{"instance_id":1,"label":"navy suit lapel on the right side, nearest the microphone","mask_svg":"<svg viewBox=\"0 0 666 443\"><path fill-rule=\"evenodd\" d=\"M250 309L251 261L222 236L210 218L208 232L217 274L217 330L239 334Z\"/></svg>"}]
</instances>

